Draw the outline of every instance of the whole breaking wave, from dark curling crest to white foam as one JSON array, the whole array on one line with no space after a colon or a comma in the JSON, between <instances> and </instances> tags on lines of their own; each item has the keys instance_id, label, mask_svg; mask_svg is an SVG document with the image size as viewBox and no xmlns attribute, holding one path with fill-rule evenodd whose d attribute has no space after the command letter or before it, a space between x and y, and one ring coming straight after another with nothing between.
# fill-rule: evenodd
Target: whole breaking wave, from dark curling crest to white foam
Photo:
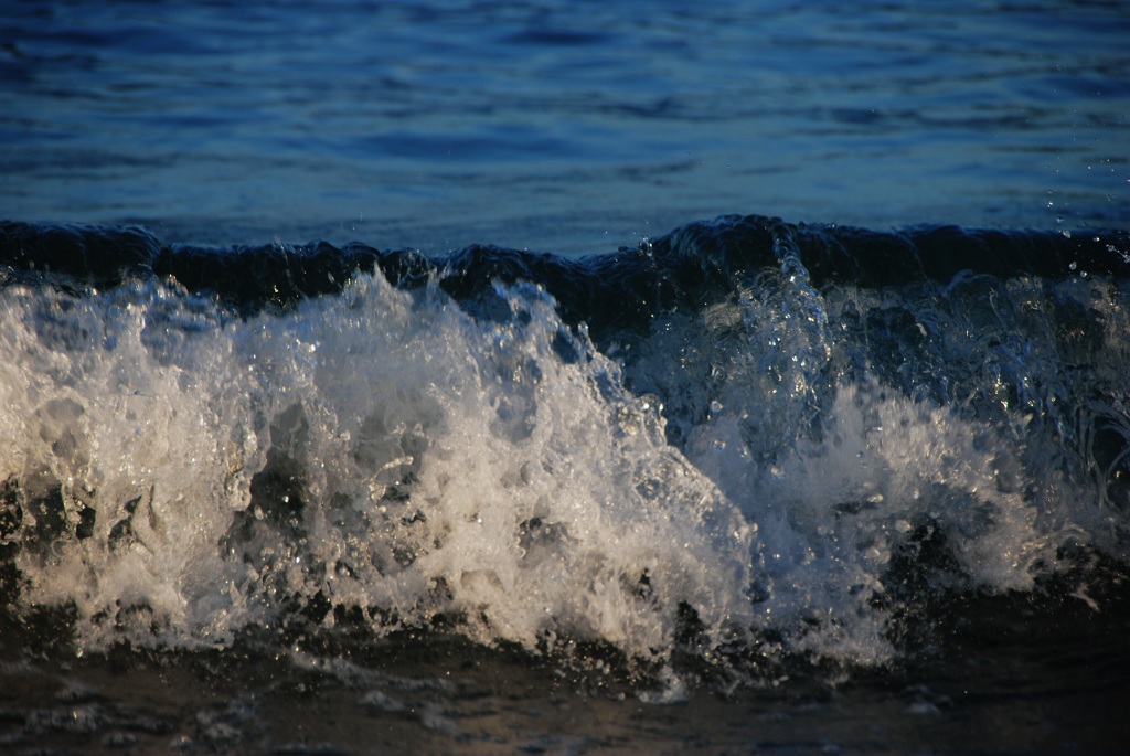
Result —
<instances>
[{"instance_id":1,"label":"whole breaking wave, from dark curling crest to white foam","mask_svg":"<svg viewBox=\"0 0 1130 756\"><path fill-rule=\"evenodd\" d=\"M1120 231L723 217L577 260L6 223L0 366L7 612L80 649L441 628L757 679L1127 574Z\"/></svg>"}]
</instances>

